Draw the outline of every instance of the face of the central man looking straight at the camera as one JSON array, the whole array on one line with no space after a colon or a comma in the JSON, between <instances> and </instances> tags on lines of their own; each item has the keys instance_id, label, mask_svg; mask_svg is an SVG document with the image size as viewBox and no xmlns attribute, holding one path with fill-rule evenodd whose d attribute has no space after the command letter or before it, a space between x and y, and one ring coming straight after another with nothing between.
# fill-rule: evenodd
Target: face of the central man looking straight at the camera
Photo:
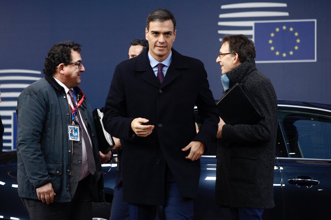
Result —
<instances>
[{"instance_id":1,"label":"face of the central man looking straight at the camera","mask_svg":"<svg viewBox=\"0 0 331 220\"><path fill-rule=\"evenodd\" d=\"M159 62L164 61L169 56L176 37L172 20L151 21L149 29L145 29L145 34L152 57Z\"/></svg>"}]
</instances>

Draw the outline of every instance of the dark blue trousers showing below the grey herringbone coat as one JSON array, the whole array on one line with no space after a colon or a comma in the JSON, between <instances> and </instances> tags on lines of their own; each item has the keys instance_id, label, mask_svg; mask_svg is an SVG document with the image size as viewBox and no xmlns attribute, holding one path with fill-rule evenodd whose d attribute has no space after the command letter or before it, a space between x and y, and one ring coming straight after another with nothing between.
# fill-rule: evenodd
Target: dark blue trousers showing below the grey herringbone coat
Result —
<instances>
[{"instance_id":1,"label":"dark blue trousers showing below the grey herringbone coat","mask_svg":"<svg viewBox=\"0 0 331 220\"><path fill-rule=\"evenodd\" d=\"M233 220L262 220L262 208L230 208Z\"/></svg>"}]
</instances>

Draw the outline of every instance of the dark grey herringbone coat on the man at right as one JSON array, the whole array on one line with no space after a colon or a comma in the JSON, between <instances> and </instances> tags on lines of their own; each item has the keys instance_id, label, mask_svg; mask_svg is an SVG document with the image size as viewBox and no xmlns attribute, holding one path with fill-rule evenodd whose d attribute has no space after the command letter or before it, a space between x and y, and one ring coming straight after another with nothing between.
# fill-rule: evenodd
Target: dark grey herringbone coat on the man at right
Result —
<instances>
[{"instance_id":1,"label":"dark grey herringbone coat on the man at right","mask_svg":"<svg viewBox=\"0 0 331 220\"><path fill-rule=\"evenodd\" d=\"M215 202L220 206L272 208L277 98L268 78L246 61L227 77L244 83L264 112L254 125L224 125L218 140Z\"/></svg>"}]
</instances>

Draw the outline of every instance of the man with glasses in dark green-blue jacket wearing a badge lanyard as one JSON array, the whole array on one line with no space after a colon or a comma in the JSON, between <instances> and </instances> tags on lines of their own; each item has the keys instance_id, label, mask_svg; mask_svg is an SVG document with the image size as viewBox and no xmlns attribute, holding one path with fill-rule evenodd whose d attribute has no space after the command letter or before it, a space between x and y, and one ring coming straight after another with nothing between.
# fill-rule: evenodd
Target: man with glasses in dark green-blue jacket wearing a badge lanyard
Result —
<instances>
[{"instance_id":1,"label":"man with glasses in dark green-blue jacket wearing a badge lanyard","mask_svg":"<svg viewBox=\"0 0 331 220\"><path fill-rule=\"evenodd\" d=\"M103 201L101 163L111 151L99 152L91 106L78 87L81 48L54 45L45 78L18 98L18 193L30 219L92 219L92 201Z\"/></svg>"}]
</instances>

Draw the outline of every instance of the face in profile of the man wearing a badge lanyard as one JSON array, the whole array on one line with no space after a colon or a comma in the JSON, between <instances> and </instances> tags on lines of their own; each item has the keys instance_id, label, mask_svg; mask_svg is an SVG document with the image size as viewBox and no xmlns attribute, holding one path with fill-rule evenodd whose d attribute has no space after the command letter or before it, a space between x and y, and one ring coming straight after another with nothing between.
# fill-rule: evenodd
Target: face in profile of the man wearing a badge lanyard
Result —
<instances>
[{"instance_id":1,"label":"face in profile of the man wearing a badge lanyard","mask_svg":"<svg viewBox=\"0 0 331 220\"><path fill-rule=\"evenodd\" d=\"M80 53L74 50L71 50L71 63L81 62L82 58ZM76 87L81 82L81 73L85 71L83 64L80 68L74 64L68 64L63 67L64 71L64 84L70 89Z\"/></svg>"}]
</instances>

